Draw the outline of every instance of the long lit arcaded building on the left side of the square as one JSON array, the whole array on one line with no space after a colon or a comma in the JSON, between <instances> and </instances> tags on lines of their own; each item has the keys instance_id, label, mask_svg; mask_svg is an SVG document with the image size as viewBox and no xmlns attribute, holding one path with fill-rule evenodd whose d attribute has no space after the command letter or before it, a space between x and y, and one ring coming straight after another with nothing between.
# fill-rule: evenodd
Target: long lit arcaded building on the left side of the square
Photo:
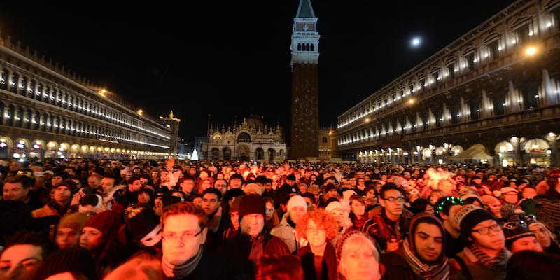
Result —
<instances>
[{"instance_id":1,"label":"long lit arcaded building on the left side of the square","mask_svg":"<svg viewBox=\"0 0 560 280\"><path fill-rule=\"evenodd\" d=\"M179 122L148 118L114 92L0 38L0 158L165 158Z\"/></svg>"}]
</instances>

